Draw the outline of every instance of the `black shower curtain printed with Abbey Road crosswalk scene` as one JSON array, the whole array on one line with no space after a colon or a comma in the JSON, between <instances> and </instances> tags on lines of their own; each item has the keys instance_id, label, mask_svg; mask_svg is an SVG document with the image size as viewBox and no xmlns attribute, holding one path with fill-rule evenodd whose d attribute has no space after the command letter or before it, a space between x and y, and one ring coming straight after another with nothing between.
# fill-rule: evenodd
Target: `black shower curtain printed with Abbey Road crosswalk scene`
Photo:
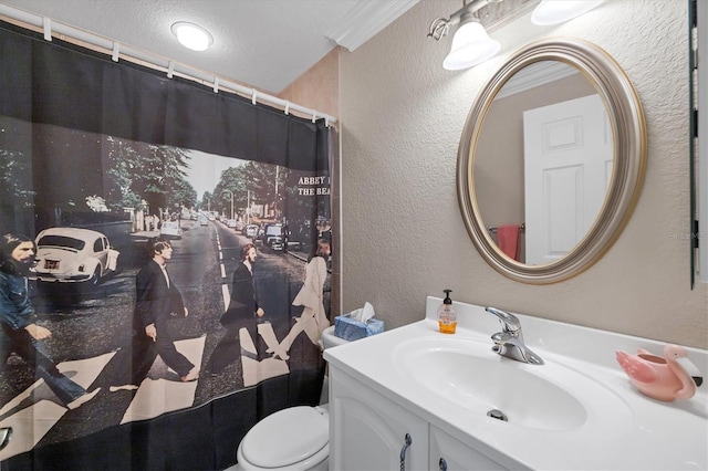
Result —
<instances>
[{"instance_id":1,"label":"black shower curtain printed with Abbey Road crosswalk scene","mask_svg":"<svg viewBox=\"0 0 708 471\"><path fill-rule=\"evenodd\" d=\"M222 469L319 402L324 123L6 23L0 95L2 470Z\"/></svg>"}]
</instances>

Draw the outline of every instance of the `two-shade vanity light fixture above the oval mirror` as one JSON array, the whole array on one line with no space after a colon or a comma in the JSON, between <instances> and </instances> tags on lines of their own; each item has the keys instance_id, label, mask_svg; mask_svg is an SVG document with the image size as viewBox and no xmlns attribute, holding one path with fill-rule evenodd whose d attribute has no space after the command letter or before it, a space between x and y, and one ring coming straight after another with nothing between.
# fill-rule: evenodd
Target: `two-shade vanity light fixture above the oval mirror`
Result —
<instances>
[{"instance_id":1,"label":"two-shade vanity light fixture above the oval mirror","mask_svg":"<svg viewBox=\"0 0 708 471\"><path fill-rule=\"evenodd\" d=\"M450 18L436 18L430 24L428 38L440 41L448 35L450 28L459 24L452 36L450 53L442 61L442 67L458 71L472 67L491 57L501 49L499 41L487 34L479 22L477 11L490 3L503 0L462 0L462 8ZM571 20L592 10L603 0L541 0L531 15L534 24L556 24Z\"/></svg>"}]
</instances>

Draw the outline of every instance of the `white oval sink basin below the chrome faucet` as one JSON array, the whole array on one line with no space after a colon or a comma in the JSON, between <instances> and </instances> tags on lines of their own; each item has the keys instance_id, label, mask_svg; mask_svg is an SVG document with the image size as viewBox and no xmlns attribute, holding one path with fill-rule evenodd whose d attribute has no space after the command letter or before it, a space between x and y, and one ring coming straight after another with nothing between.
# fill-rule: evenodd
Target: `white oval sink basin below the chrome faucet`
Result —
<instances>
[{"instance_id":1,"label":"white oval sink basin below the chrome faucet","mask_svg":"<svg viewBox=\"0 0 708 471\"><path fill-rule=\"evenodd\" d=\"M552 431L631 422L626 404L594 379L550 358L528 365L501 357L491 342L437 336L404 342L392 355L418 386L480 420Z\"/></svg>"}]
</instances>

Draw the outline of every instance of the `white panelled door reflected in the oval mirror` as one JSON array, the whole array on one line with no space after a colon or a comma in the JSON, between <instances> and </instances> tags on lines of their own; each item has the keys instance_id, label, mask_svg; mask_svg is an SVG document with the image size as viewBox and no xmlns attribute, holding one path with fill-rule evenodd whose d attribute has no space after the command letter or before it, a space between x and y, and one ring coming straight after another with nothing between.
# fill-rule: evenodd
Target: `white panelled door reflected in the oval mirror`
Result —
<instances>
[{"instance_id":1,"label":"white panelled door reflected in the oval mirror","mask_svg":"<svg viewBox=\"0 0 708 471\"><path fill-rule=\"evenodd\" d=\"M551 263L587 233L605 199L613 148L600 95L523 113L525 263Z\"/></svg>"}]
</instances>

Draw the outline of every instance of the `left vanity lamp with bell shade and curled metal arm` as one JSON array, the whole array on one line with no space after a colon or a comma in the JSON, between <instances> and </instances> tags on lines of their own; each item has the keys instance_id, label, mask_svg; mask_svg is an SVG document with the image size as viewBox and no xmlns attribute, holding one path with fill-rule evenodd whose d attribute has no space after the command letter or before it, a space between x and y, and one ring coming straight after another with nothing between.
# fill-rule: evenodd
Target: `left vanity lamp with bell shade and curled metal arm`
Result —
<instances>
[{"instance_id":1,"label":"left vanity lamp with bell shade and curled metal arm","mask_svg":"<svg viewBox=\"0 0 708 471\"><path fill-rule=\"evenodd\" d=\"M450 15L449 19L437 18L430 24L428 36L436 41L445 38L450 27L459 24L452 36L450 53L442 61L442 67L448 71L469 69L493 57L501 44L487 34L485 27L479 22L477 10L502 0L472 0L465 1L461 9Z\"/></svg>"}]
</instances>

